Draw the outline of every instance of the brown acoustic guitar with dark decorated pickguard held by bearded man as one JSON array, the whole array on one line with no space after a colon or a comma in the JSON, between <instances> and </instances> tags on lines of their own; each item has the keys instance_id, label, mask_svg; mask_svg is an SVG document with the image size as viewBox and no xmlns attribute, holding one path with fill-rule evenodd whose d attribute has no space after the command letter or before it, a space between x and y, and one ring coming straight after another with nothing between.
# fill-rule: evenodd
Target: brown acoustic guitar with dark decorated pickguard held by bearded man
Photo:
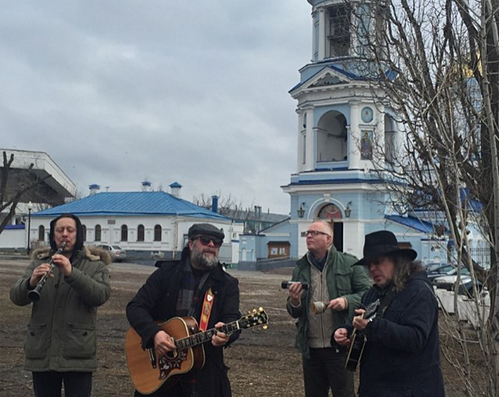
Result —
<instances>
[{"instance_id":1,"label":"brown acoustic guitar with dark decorated pickguard held by bearded man","mask_svg":"<svg viewBox=\"0 0 499 397\"><path fill-rule=\"evenodd\" d=\"M173 387L182 375L204 365L202 344L211 341L211 337L220 331L227 335L236 330L268 324L268 315L263 310L254 309L249 315L219 328L199 332L198 322L193 317L173 317L159 324L162 330L173 337L176 350L157 360L154 349L142 349L141 337L129 328L125 335L125 355L132 382L141 394L151 394L166 383L166 388Z\"/></svg>"}]
</instances>

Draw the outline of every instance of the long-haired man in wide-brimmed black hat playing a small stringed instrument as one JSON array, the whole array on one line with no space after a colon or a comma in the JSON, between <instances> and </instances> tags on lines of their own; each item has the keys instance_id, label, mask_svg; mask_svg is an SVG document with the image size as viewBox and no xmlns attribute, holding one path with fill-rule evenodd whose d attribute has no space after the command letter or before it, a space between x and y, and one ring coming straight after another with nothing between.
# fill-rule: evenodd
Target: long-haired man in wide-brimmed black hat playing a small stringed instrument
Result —
<instances>
[{"instance_id":1,"label":"long-haired man in wide-brimmed black hat playing a small stringed instrument","mask_svg":"<svg viewBox=\"0 0 499 397\"><path fill-rule=\"evenodd\" d=\"M353 324L335 330L332 341L333 348L349 346L356 330L353 346L358 346L351 355L362 352L360 397L445 395L438 303L416 257L413 249L400 248L390 231L365 237L364 258L357 265L367 266L375 285L362 297Z\"/></svg>"}]
</instances>

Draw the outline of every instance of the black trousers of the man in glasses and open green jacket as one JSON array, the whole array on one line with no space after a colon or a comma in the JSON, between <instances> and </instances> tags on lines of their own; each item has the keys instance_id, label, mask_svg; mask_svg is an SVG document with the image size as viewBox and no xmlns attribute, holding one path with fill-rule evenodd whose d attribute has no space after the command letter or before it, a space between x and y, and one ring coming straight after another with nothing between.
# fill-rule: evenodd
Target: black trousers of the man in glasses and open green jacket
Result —
<instances>
[{"instance_id":1,"label":"black trousers of the man in glasses and open green jacket","mask_svg":"<svg viewBox=\"0 0 499 397\"><path fill-rule=\"evenodd\" d=\"M347 353L331 347L310 349L310 358L303 358L306 397L354 397L353 372L344 369Z\"/></svg>"}]
</instances>

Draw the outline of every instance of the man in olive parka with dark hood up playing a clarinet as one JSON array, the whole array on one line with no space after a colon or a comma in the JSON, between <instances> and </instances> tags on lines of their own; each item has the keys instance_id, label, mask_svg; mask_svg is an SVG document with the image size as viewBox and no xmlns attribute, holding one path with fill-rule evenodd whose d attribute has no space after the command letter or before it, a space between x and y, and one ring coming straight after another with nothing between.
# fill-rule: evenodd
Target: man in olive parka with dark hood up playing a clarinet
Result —
<instances>
[{"instance_id":1,"label":"man in olive parka with dark hood up playing a clarinet","mask_svg":"<svg viewBox=\"0 0 499 397\"><path fill-rule=\"evenodd\" d=\"M80 220L63 214L51 222L51 249L33 253L33 261L10 289L10 300L18 306L31 303L35 290L49 272L40 294L33 299L24 351L24 369L33 373L37 397L61 395L89 397L96 362L97 306L109 299L111 287L109 254L83 247ZM62 252L58 249L66 243ZM52 261L52 262L51 262Z\"/></svg>"}]
</instances>

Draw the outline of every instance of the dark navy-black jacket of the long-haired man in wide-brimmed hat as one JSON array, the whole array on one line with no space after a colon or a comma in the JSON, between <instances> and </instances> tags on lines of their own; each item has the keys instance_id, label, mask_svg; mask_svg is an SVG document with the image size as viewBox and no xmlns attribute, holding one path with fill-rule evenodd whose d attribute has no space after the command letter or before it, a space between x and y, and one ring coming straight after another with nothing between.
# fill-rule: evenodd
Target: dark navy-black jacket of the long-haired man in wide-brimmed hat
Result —
<instances>
[{"instance_id":1,"label":"dark navy-black jacket of the long-haired man in wide-brimmed hat","mask_svg":"<svg viewBox=\"0 0 499 397\"><path fill-rule=\"evenodd\" d=\"M376 285L362 303L386 292ZM360 361L360 397L443 397L438 304L424 272L412 275L383 317L365 328L367 343Z\"/></svg>"}]
</instances>

